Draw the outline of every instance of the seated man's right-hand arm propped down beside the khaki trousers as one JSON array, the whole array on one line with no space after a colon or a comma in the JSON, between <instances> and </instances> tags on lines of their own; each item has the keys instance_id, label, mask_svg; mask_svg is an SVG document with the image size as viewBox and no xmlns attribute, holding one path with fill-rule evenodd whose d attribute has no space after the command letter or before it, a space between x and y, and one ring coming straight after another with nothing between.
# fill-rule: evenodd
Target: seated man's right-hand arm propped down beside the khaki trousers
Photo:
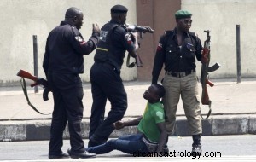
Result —
<instances>
[{"instance_id":1,"label":"seated man's right-hand arm propped down beside the khaki trousers","mask_svg":"<svg viewBox=\"0 0 256 162\"><path fill-rule=\"evenodd\" d=\"M160 130L160 137L159 137L159 142L158 142L158 147L157 147L157 152L163 152L164 146L166 144L166 139L167 139L167 132L166 132L166 124L165 122L161 122L157 124L158 129Z\"/></svg>"}]
</instances>

